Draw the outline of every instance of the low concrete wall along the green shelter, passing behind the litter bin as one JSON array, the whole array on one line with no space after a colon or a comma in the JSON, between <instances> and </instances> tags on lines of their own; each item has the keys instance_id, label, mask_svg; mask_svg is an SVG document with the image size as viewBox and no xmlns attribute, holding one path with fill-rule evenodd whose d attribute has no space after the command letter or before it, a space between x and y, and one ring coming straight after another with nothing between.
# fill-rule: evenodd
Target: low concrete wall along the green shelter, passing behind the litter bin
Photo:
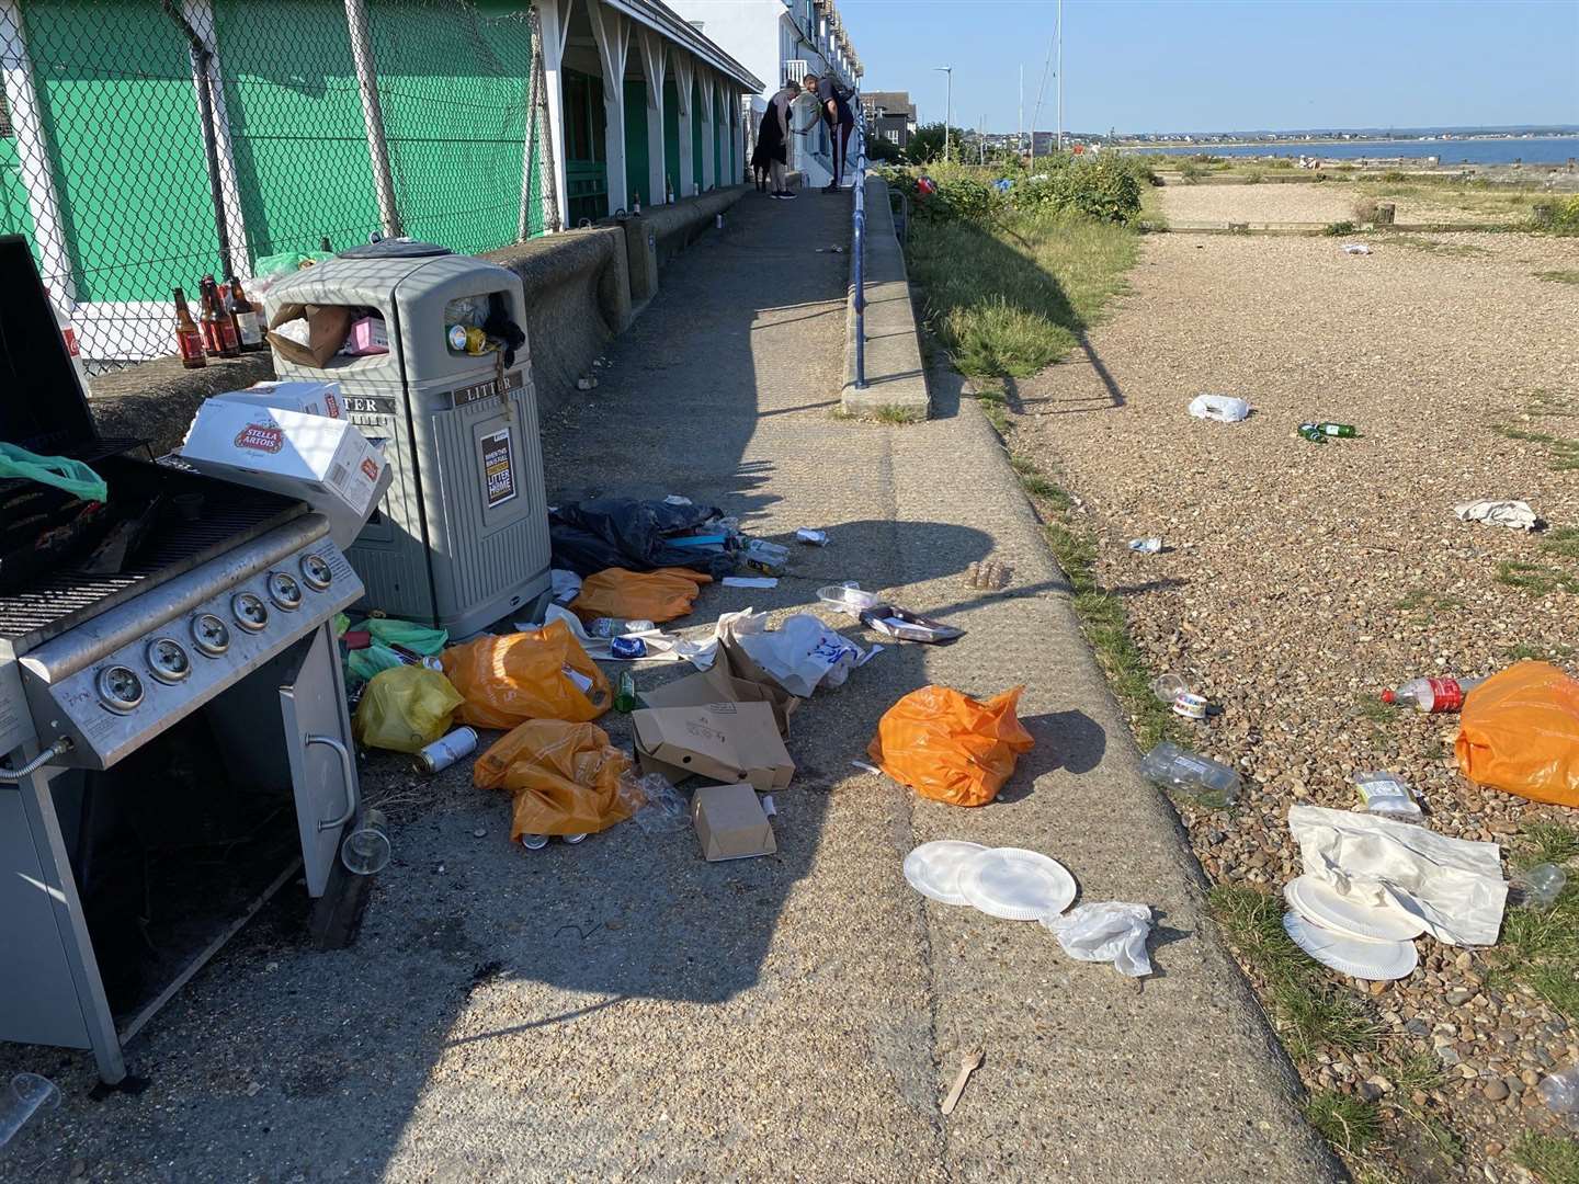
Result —
<instances>
[{"instance_id":1,"label":"low concrete wall along the green shelter, passing behind the litter bin","mask_svg":"<svg viewBox=\"0 0 1579 1184\"><path fill-rule=\"evenodd\" d=\"M651 287L662 265L737 202L745 186L652 210L639 221L654 238ZM632 219L638 221L638 219ZM508 267L526 289L526 335L532 350L532 382L542 417L576 398L576 379L592 358L630 327L633 317L628 234L624 226L532 238L480 257ZM638 297L639 303L651 298ZM150 442L155 455L178 447L197 406L223 390L238 390L273 377L268 354L235 362L210 360L183 369L175 358L144 362L90 384L90 406L103 436Z\"/></svg>"}]
</instances>

